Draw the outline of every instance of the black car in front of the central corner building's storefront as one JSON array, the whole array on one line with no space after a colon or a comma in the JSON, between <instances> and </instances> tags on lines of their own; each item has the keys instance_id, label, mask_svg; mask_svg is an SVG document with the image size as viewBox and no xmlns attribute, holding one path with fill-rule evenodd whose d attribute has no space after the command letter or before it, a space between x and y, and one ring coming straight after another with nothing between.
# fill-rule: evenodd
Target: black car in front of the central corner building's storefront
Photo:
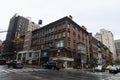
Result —
<instances>
[{"instance_id":1,"label":"black car in front of the central corner building's storefront","mask_svg":"<svg viewBox=\"0 0 120 80\"><path fill-rule=\"evenodd\" d=\"M59 64L55 61L47 62L43 66L44 66L45 69L55 69L55 70L60 69Z\"/></svg>"}]
</instances>

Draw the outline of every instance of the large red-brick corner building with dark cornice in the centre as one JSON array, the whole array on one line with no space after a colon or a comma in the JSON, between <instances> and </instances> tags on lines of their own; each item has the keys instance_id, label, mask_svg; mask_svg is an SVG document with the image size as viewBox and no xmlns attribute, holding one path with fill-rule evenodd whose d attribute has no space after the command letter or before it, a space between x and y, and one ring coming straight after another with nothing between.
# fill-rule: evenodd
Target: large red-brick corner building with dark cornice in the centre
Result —
<instances>
[{"instance_id":1,"label":"large red-brick corner building with dark cornice in the centre","mask_svg":"<svg viewBox=\"0 0 120 80\"><path fill-rule=\"evenodd\" d=\"M85 64L90 59L89 33L71 18L64 17L32 31L31 49L41 50L41 65L56 60L64 68L77 65L78 43L85 45Z\"/></svg>"}]
</instances>

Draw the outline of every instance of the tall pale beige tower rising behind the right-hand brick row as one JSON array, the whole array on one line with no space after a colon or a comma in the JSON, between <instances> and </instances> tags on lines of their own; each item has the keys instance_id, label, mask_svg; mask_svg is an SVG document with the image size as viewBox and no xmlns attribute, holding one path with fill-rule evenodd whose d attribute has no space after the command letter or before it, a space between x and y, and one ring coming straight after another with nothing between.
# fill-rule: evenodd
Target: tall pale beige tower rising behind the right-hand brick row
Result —
<instances>
[{"instance_id":1,"label":"tall pale beige tower rising behind the right-hand brick row","mask_svg":"<svg viewBox=\"0 0 120 80\"><path fill-rule=\"evenodd\" d=\"M95 38L107 46L113 53L113 60L117 59L114 37L111 31L101 29L100 33L96 33Z\"/></svg>"}]
</instances>

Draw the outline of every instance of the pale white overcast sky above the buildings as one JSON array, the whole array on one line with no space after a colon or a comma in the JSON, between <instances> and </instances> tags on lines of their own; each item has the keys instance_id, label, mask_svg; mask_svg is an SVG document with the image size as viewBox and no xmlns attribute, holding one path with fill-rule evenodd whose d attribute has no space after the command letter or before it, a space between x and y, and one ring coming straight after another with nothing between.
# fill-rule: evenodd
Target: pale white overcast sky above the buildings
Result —
<instances>
[{"instance_id":1,"label":"pale white overcast sky above the buildings","mask_svg":"<svg viewBox=\"0 0 120 80\"><path fill-rule=\"evenodd\" d=\"M120 39L120 0L0 0L0 31L7 30L10 18L18 13L43 25L72 15L73 20L93 35L104 28ZM5 40L6 33L0 33Z\"/></svg>"}]
</instances>

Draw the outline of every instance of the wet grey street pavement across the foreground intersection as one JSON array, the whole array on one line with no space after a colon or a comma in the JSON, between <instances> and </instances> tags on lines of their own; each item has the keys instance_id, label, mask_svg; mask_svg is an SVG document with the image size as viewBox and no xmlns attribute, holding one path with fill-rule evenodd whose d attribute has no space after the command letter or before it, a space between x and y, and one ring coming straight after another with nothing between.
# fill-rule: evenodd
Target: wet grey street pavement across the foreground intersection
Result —
<instances>
[{"instance_id":1,"label":"wet grey street pavement across the foreground intersection","mask_svg":"<svg viewBox=\"0 0 120 80\"><path fill-rule=\"evenodd\" d=\"M0 80L120 80L120 74L93 73L78 70L13 69L0 66Z\"/></svg>"}]
</instances>

